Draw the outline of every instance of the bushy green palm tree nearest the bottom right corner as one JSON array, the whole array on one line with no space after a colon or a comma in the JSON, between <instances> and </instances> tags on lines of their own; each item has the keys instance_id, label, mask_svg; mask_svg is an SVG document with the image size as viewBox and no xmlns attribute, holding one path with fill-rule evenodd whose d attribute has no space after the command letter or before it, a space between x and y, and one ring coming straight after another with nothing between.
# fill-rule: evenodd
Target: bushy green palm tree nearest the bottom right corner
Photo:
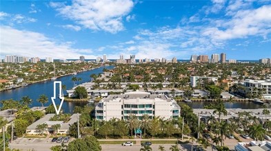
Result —
<instances>
[{"instance_id":1,"label":"bushy green palm tree nearest the bottom right corner","mask_svg":"<svg viewBox=\"0 0 271 151\"><path fill-rule=\"evenodd\" d=\"M263 140L265 137L265 129L261 124L253 125L250 127L250 136L254 139L254 141Z\"/></svg>"}]
</instances>

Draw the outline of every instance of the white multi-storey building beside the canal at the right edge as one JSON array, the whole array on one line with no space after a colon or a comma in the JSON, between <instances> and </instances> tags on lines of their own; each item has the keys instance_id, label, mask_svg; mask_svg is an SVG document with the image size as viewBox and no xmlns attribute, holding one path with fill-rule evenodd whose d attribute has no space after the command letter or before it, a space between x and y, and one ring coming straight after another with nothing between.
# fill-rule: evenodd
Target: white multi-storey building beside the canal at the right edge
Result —
<instances>
[{"instance_id":1,"label":"white multi-storey building beside the canal at the right edge","mask_svg":"<svg viewBox=\"0 0 271 151\"><path fill-rule=\"evenodd\" d=\"M245 87L247 87L252 93L271 94L271 80L251 80L246 79L244 81Z\"/></svg>"}]
</instances>

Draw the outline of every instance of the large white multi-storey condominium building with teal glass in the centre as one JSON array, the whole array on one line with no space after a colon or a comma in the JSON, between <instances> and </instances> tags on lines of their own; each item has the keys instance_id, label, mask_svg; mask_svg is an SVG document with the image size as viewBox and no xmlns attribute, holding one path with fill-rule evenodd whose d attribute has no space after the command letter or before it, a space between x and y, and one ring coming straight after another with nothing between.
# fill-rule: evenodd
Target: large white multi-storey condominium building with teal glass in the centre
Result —
<instances>
[{"instance_id":1,"label":"large white multi-storey condominium building with teal glass in the centre","mask_svg":"<svg viewBox=\"0 0 271 151\"><path fill-rule=\"evenodd\" d=\"M98 120L109 121L113 117L128 119L130 114L134 114L140 120L144 114L148 114L151 118L160 116L170 119L179 117L180 111L180 106L170 97L132 91L103 98L95 106L95 117Z\"/></svg>"}]
</instances>

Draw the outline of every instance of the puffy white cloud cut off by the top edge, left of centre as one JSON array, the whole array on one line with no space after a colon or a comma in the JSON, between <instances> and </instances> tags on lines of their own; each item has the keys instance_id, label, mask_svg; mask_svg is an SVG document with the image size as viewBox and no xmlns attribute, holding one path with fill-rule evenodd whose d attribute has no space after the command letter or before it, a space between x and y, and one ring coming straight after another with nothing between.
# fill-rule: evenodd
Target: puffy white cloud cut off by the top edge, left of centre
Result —
<instances>
[{"instance_id":1,"label":"puffy white cloud cut off by the top edge, left of centre","mask_svg":"<svg viewBox=\"0 0 271 151\"><path fill-rule=\"evenodd\" d=\"M91 30L117 33L124 29L122 19L133 7L131 0L74 0L71 5L50 2L59 14Z\"/></svg>"}]
</instances>

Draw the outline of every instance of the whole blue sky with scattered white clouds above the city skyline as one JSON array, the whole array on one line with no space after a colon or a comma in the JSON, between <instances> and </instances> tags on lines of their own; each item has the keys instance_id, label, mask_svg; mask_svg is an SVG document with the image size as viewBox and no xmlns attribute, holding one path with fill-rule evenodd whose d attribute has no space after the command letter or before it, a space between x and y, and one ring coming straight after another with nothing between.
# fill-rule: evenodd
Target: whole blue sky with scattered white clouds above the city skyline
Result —
<instances>
[{"instance_id":1,"label":"whole blue sky with scattered white clouds above the city skyline","mask_svg":"<svg viewBox=\"0 0 271 151\"><path fill-rule=\"evenodd\" d=\"M270 0L1 1L0 57L271 58Z\"/></svg>"}]
</instances>

